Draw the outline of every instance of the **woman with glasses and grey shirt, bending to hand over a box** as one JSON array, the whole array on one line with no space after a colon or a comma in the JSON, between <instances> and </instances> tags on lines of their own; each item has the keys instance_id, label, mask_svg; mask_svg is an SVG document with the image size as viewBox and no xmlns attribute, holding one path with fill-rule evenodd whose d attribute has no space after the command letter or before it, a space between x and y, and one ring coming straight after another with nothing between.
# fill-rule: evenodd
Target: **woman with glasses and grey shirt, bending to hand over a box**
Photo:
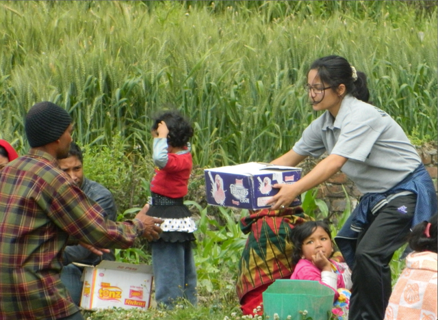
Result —
<instances>
[{"instance_id":1,"label":"woman with glasses and grey shirt, bending to hand over a box","mask_svg":"<svg viewBox=\"0 0 438 320\"><path fill-rule=\"evenodd\" d=\"M389 261L411 226L437 211L435 187L402 128L368 103L365 74L344 57L315 60L305 90L313 110L324 113L272 163L295 166L309 156L327 157L293 185L273 185L280 190L270 204L287 207L339 171L355 183L363 196L335 237L352 269L349 319L383 319L391 295Z\"/></svg>"}]
</instances>

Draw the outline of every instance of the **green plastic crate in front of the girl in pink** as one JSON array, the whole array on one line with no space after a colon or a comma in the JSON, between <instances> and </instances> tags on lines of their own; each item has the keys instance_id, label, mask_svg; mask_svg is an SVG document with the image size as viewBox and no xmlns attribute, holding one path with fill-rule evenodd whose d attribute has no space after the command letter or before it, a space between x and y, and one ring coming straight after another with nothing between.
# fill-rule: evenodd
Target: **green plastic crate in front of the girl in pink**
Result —
<instances>
[{"instance_id":1,"label":"green plastic crate in front of the girl in pink","mask_svg":"<svg viewBox=\"0 0 438 320\"><path fill-rule=\"evenodd\" d=\"M307 317L313 320L329 320L333 308L335 292L318 281L275 280L263 292L263 312L265 317L279 320L291 316L301 319L300 311L307 310Z\"/></svg>"}]
</instances>

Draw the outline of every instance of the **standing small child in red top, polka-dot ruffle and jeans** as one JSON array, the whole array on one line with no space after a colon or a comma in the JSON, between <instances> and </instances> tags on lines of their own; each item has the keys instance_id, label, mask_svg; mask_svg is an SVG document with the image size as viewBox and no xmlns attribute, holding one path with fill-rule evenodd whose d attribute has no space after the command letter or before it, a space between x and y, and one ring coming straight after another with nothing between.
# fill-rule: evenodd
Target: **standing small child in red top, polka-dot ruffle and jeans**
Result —
<instances>
[{"instance_id":1,"label":"standing small child in red top, polka-dot ruffle and jeans","mask_svg":"<svg viewBox=\"0 0 438 320\"><path fill-rule=\"evenodd\" d=\"M183 197L192 172L190 137L193 128L178 111L166 111L152 127L155 176L148 215L164 220L160 238L151 243L155 300L173 308L185 298L196 305L196 269L192 246L196 226Z\"/></svg>"}]
</instances>

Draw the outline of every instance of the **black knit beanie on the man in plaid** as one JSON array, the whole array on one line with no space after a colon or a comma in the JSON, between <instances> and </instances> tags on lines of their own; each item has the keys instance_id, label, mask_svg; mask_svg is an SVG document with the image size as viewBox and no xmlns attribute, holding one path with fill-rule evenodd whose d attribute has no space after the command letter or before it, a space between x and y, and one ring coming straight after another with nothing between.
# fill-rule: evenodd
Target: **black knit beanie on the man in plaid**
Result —
<instances>
[{"instance_id":1,"label":"black knit beanie on the man in plaid","mask_svg":"<svg viewBox=\"0 0 438 320\"><path fill-rule=\"evenodd\" d=\"M32 106L26 115L25 131L32 148L56 141L72 122L68 112L49 101Z\"/></svg>"}]
</instances>

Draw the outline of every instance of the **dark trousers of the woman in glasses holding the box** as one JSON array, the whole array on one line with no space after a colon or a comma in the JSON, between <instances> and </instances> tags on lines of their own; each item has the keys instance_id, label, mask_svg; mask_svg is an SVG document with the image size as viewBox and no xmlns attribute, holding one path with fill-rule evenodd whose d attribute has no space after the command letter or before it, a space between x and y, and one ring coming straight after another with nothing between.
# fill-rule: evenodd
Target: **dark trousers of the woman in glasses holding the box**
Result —
<instances>
[{"instance_id":1,"label":"dark trousers of the woman in glasses holding the box","mask_svg":"<svg viewBox=\"0 0 438 320\"><path fill-rule=\"evenodd\" d=\"M399 196L386 204L357 239L349 320L383 320L391 296L389 262L407 241L416 195Z\"/></svg>"}]
</instances>

